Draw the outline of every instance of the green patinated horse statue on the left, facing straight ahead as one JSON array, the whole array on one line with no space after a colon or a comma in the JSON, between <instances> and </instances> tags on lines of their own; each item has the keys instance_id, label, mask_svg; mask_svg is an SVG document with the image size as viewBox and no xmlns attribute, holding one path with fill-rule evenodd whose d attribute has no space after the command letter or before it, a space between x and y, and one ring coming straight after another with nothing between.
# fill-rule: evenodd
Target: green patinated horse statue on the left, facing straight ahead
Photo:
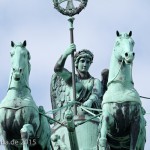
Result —
<instances>
[{"instance_id":1,"label":"green patinated horse statue on the left, facing straight ahead","mask_svg":"<svg viewBox=\"0 0 150 150\"><path fill-rule=\"evenodd\" d=\"M51 130L44 108L36 106L29 87L30 53L23 43L11 42L8 91L0 103L0 130L6 150L50 150ZM40 113L39 113L40 112ZM15 142L13 142L15 141ZM11 143L11 144L9 144Z\"/></svg>"}]
</instances>

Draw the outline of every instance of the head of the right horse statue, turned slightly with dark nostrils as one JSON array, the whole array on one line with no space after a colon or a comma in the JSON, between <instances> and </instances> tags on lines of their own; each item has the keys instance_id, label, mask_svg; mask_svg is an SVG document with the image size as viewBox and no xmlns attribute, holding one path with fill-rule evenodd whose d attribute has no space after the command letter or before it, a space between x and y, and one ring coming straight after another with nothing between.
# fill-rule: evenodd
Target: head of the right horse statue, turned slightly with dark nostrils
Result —
<instances>
[{"instance_id":1,"label":"head of the right horse statue, turned slightly with dark nostrils","mask_svg":"<svg viewBox=\"0 0 150 150\"><path fill-rule=\"evenodd\" d=\"M131 64L134 60L135 53L133 52L134 41L131 38L132 31L129 33L116 32L117 39L114 47L114 55L119 62Z\"/></svg>"}]
</instances>

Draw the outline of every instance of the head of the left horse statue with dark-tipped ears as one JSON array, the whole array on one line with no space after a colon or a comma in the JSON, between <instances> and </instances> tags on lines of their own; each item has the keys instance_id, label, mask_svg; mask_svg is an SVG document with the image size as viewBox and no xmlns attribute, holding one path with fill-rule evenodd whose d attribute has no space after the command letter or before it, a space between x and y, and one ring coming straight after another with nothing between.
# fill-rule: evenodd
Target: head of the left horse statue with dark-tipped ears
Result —
<instances>
[{"instance_id":1,"label":"head of the left horse statue with dark-tipped ears","mask_svg":"<svg viewBox=\"0 0 150 150\"><path fill-rule=\"evenodd\" d=\"M19 81L20 78L25 74L25 70L28 68L30 72L30 53L26 49L26 41L23 43L15 44L11 41L11 65L12 65L12 77L15 81Z\"/></svg>"}]
</instances>

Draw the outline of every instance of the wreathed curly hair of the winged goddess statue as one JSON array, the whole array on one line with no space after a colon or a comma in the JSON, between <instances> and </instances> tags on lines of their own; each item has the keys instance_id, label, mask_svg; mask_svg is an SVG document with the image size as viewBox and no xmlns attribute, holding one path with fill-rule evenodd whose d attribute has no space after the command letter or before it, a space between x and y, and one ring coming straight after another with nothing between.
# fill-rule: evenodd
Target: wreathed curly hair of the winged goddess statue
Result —
<instances>
[{"instance_id":1,"label":"wreathed curly hair of the winged goddess statue","mask_svg":"<svg viewBox=\"0 0 150 150\"><path fill-rule=\"evenodd\" d=\"M78 66L78 62L79 62L80 58L83 58L83 57L89 58L91 63L93 62L93 58L94 58L93 53L87 49L82 49L81 51L76 52L76 54L74 56L76 68Z\"/></svg>"}]
</instances>

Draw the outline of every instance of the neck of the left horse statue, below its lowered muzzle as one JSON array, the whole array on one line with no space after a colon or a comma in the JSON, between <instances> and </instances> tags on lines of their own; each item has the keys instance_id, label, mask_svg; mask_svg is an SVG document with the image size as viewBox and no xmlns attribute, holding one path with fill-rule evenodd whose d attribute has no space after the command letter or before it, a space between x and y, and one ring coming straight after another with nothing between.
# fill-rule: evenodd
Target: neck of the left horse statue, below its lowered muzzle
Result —
<instances>
[{"instance_id":1,"label":"neck of the left horse statue, below its lowered muzzle","mask_svg":"<svg viewBox=\"0 0 150 150\"><path fill-rule=\"evenodd\" d=\"M25 95L30 94L28 67L24 69L24 73L19 81L14 80L13 71L11 70L8 85L8 94L13 95L14 97L24 97Z\"/></svg>"}]
</instances>

